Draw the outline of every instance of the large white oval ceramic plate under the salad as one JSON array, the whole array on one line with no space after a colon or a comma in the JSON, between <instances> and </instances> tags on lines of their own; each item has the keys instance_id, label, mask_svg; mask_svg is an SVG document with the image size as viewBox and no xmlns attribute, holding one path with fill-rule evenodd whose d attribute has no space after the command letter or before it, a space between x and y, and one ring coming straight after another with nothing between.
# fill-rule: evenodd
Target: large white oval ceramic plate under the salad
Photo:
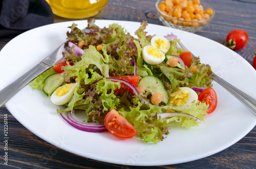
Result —
<instances>
[{"instance_id":1,"label":"large white oval ceramic plate under the salad","mask_svg":"<svg viewBox=\"0 0 256 169\"><path fill-rule=\"evenodd\" d=\"M39 63L66 39L68 26L87 26L87 20L62 22L38 27L11 40L0 52L0 88ZM103 27L119 23L134 35L138 22L96 20ZM243 92L256 98L256 71L240 55L207 38L149 24L149 35L178 35L202 63ZM15 69L13 69L15 68ZM218 106L199 127L174 128L158 144L145 144L139 138L120 140L108 132L89 133L77 130L57 113L56 105L38 90L25 87L6 103L11 114L40 138L74 154L123 165L165 165L200 159L222 151L243 138L255 125L256 116L225 89L214 83Z\"/></svg>"}]
</instances>

